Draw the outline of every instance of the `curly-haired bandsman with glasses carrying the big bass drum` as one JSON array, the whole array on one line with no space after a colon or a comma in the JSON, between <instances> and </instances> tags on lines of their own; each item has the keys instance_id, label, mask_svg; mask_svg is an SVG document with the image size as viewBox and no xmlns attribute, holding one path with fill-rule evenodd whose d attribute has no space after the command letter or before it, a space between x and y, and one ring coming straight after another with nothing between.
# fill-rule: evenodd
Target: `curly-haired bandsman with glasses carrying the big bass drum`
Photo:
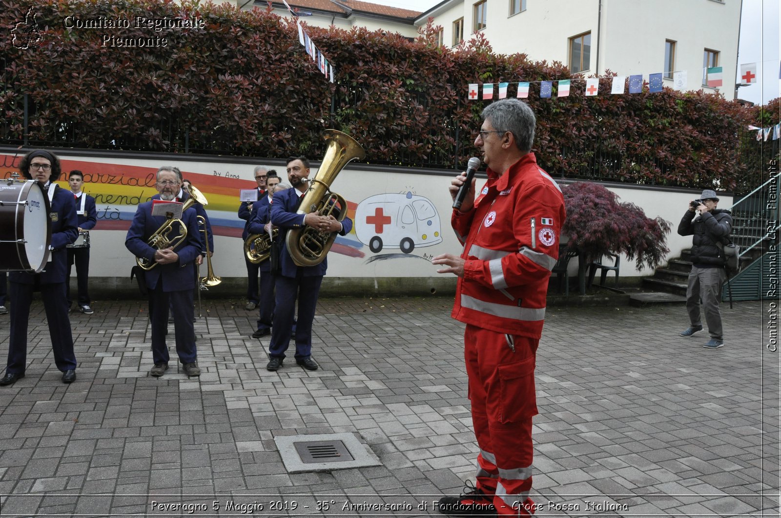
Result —
<instances>
[{"instance_id":1,"label":"curly-haired bandsman with glasses carrying the big bass drum","mask_svg":"<svg viewBox=\"0 0 781 518\"><path fill-rule=\"evenodd\" d=\"M8 365L0 385L11 385L24 378L27 368L27 325L34 291L41 292L54 361L62 372L62 382L72 383L76 381L76 356L73 354L73 335L66 304L68 254L65 247L78 236L76 204L73 203L73 194L54 183L62 172L55 154L43 150L31 151L22 158L19 169L25 178L37 180L48 193L51 202L49 218L52 220L52 255L41 273L9 272L9 295L13 300L11 336Z\"/></svg>"}]
</instances>

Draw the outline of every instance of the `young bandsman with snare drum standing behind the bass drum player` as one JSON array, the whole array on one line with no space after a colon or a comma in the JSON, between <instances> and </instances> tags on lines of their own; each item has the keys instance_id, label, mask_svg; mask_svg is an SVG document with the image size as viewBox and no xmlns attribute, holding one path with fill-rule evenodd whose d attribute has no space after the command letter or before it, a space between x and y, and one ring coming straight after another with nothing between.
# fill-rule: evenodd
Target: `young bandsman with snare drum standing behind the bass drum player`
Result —
<instances>
[{"instance_id":1,"label":"young bandsman with snare drum standing behind the bass drum player","mask_svg":"<svg viewBox=\"0 0 781 518\"><path fill-rule=\"evenodd\" d=\"M95 210L95 198L82 191L84 187L84 174L78 169L73 169L68 173L68 183L70 192L73 193L73 200L76 203L76 215L79 218L79 232L95 228L98 222L98 211ZM68 296L68 307L73 302L70 298L70 266L76 264L76 279L79 288L77 304L79 310L84 314L93 314L95 311L90 307L90 294L87 291L87 284L90 276L90 245L86 247L77 247L68 249L68 281L66 281L66 293Z\"/></svg>"}]
</instances>

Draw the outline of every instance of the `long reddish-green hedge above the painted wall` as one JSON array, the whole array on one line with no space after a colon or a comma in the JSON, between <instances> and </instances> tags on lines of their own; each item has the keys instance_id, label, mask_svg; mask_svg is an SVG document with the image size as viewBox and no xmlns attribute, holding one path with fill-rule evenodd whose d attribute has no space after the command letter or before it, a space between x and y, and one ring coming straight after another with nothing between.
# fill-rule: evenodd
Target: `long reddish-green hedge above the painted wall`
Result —
<instances>
[{"instance_id":1,"label":"long reddish-green hedge above the painted wall","mask_svg":"<svg viewBox=\"0 0 781 518\"><path fill-rule=\"evenodd\" d=\"M229 5L119 0L0 0L0 25L14 27L32 6L44 41L6 45L5 123L0 139L23 140L23 94L30 100L31 143L209 151L318 158L320 133L335 127L366 148L366 160L399 165L462 165L475 154L473 135L486 101L467 101L468 83L572 77L561 63L494 55L480 39L455 51L365 29L307 27L337 68L337 83L316 69L291 20L269 10ZM204 20L202 29L72 29L80 20ZM304 20L305 21L305 20ZM166 47L102 46L100 34L165 37ZM576 83L568 98L529 103L537 113L535 151L555 176L601 176L631 183L683 186L736 184L737 153L751 109L701 92L597 97ZM646 88L647 90L647 88ZM511 88L511 95L515 90Z\"/></svg>"}]
</instances>

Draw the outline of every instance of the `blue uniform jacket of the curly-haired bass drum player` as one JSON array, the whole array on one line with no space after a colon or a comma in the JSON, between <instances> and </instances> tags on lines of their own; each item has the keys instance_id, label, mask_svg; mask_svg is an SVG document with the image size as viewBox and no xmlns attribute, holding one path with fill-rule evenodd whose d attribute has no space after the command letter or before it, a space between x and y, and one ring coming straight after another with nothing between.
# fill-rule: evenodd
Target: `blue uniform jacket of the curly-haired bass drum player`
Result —
<instances>
[{"instance_id":1,"label":"blue uniform jacket of the curly-haired bass drum player","mask_svg":"<svg viewBox=\"0 0 781 518\"><path fill-rule=\"evenodd\" d=\"M9 271L10 282L34 284L38 278L41 284L66 282L68 275L68 254L66 245L70 245L79 236L76 217L76 204L73 203L73 193L57 186L52 197L52 207L49 209L49 219L52 220L52 251L51 259L44 271L33 274L27 271Z\"/></svg>"}]
</instances>

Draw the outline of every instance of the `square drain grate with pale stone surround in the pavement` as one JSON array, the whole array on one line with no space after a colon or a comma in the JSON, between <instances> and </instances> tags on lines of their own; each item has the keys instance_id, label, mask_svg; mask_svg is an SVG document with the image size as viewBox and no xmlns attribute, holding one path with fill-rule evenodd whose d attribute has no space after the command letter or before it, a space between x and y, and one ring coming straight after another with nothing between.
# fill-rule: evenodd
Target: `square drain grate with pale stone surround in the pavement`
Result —
<instances>
[{"instance_id":1,"label":"square drain grate with pale stone surround in the pavement","mask_svg":"<svg viewBox=\"0 0 781 518\"><path fill-rule=\"evenodd\" d=\"M381 466L380 459L350 433L280 435L274 438L288 473Z\"/></svg>"}]
</instances>

